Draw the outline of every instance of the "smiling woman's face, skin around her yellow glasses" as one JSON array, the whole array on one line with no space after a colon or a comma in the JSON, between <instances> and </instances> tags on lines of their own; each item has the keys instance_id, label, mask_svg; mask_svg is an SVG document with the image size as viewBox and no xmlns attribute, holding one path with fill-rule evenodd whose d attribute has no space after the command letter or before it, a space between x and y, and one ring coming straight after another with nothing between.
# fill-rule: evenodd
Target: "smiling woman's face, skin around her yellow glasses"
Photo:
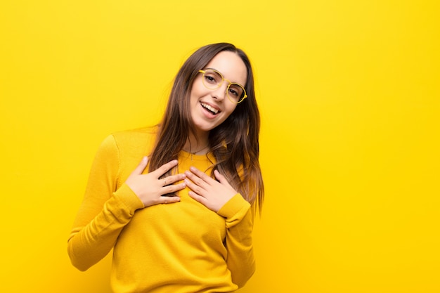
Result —
<instances>
[{"instance_id":1,"label":"smiling woman's face, skin around her yellow glasses","mask_svg":"<svg viewBox=\"0 0 440 293\"><path fill-rule=\"evenodd\" d=\"M245 86L247 69L241 58L233 52L221 51L208 63L206 68L217 70L225 79ZM205 70L206 68L200 68ZM237 107L228 99L226 89L228 81L224 81L217 89L207 89L202 83L203 74L199 73L193 82L190 93L191 119L195 129L209 132L223 123Z\"/></svg>"}]
</instances>

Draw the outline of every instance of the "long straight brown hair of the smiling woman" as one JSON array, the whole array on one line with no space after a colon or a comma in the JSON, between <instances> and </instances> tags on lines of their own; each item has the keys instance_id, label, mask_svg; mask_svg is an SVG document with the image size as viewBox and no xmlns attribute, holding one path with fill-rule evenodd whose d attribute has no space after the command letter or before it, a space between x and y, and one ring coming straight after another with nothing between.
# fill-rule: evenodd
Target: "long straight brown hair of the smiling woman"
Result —
<instances>
[{"instance_id":1,"label":"long straight brown hair of the smiling woman","mask_svg":"<svg viewBox=\"0 0 440 293\"><path fill-rule=\"evenodd\" d=\"M222 124L209 131L209 152L212 152L216 159L211 176L214 169L217 169L245 200L250 203L257 200L261 211L264 185L259 166L260 117L255 99L254 76L249 58L233 44L203 46L183 63L174 79L162 122L158 125L155 146L150 155L149 171L177 159L189 134L195 134L190 118L190 91L199 70L221 51L237 53L245 63L247 98L237 105Z\"/></svg>"}]
</instances>

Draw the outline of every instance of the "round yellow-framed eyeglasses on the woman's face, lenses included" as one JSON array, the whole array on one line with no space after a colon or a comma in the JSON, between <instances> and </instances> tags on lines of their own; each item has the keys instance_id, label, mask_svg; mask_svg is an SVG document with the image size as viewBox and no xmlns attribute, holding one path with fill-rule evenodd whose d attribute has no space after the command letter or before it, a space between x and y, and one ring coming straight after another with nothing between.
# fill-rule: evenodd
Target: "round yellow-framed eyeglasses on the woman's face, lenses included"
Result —
<instances>
[{"instance_id":1,"label":"round yellow-framed eyeglasses on the woman's face, lenses included","mask_svg":"<svg viewBox=\"0 0 440 293\"><path fill-rule=\"evenodd\" d=\"M219 87L226 80L226 82L228 82L226 96L228 96L228 99L231 100L232 103L238 104L247 98L246 90L241 84L237 84L236 82L231 82L228 79L225 79L223 74L217 70L207 69L199 70L199 72L203 74L202 82L207 89L219 89Z\"/></svg>"}]
</instances>

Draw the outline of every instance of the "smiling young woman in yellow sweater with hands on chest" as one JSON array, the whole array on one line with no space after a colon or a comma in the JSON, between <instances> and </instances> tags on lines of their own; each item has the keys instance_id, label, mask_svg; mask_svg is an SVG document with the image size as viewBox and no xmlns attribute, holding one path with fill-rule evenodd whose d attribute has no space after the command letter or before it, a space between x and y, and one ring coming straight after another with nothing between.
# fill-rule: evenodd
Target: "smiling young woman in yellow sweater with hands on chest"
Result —
<instances>
[{"instance_id":1,"label":"smiling young woman in yellow sweater with hands on chest","mask_svg":"<svg viewBox=\"0 0 440 293\"><path fill-rule=\"evenodd\" d=\"M73 265L85 271L113 249L116 293L242 287L255 269L258 159L249 59L232 44L198 49L159 125L103 141L68 240Z\"/></svg>"}]
</instances>

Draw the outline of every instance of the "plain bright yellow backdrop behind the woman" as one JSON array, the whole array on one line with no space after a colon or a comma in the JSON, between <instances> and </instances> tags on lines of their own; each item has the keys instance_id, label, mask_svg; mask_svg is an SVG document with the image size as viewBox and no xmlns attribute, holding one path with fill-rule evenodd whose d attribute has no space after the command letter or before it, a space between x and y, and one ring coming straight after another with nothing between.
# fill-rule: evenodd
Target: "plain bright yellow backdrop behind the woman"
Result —
<instances>
[{"instance_id":1,"label":"plain bright yellow backdrop behind the woman","mask_svg":"<svg viewBox=\"0 0 440 293\"><path fill-rule=\"evenodd\" d=\"M67 236L113 131L155 124L190 53L254 65L264 211L241 293L440 292L439 1L0 3L1 292L109 292ZM154 269L152 272L154 273Z\"/></svg>"}]
</instances>

